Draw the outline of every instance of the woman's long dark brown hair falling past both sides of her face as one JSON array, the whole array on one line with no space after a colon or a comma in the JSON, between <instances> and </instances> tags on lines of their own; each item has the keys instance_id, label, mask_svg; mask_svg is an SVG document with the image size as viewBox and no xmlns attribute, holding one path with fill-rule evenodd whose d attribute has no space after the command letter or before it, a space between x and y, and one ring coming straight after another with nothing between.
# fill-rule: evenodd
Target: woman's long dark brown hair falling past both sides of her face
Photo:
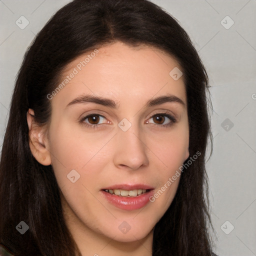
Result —
<instances>
[{"instance_id":1,"label":"woman's long dark brown hair falling past both sides of her face","mask_svg":"<svg viewBox=\"0 0 256 256\"><path fill-rule=\"evenodd\" d=\"M46 95L58 84L65 65L114 41L153 46L179 62L187 95L189 154L201 153L187 164L171 205L155 225L152 255L211 255L205 172L207 139L211 139L209 86L189 36L171 15L148 0L74 0L36 35L11 99L0 160L0 243L16 256L80 255L64 222L52 166L38 163L29 149L26 112L32 108L36 122L47 123L51 106ZM29 226L24 234L15 228L20 221Z\"/></svg>"}]
</instances>

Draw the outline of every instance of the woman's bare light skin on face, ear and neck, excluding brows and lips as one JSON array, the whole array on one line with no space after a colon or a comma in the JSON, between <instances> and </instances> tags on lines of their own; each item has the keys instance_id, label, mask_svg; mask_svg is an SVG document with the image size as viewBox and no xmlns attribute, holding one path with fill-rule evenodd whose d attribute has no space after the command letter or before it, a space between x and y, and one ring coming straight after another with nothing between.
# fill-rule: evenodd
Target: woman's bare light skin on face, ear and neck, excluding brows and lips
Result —
<instances>
[{"instance_id":1,"label":"woman's bare light skin on face, ear and neck, excluding brows and lips","mask_svg":"<svg viewBox=\"0 0 256 256\"><path fill-rule=\"evenodd\" d=\"M185 85L182 76L174 80L169 75L174 67L181 67L168 54L148 46L134 48L117 41L98 50L51 99L47 125L36 126L29 109L30 149L41 164L53 166L64 218L82 255L151 255L153 228L170 205L180 177L154 202L136 210L115 207L100 189L142 183L158 191L189 156ZM87 54L70 62L63 77ZM107 97L119 106L89 102L66 107L81 94ZM185 105L165 102L146 107L149 99L166 94ZM79 122L95 111L104 117L82 121L91 126L98 123L98 128ZM164 111L176 122L152 118ZM127 131L118 127L123 118L131 123ZM72 169L80 174L74 183L67 178ZM126 233L118 228L123 221L130 226Z\"/></svg>"}]
</instances>

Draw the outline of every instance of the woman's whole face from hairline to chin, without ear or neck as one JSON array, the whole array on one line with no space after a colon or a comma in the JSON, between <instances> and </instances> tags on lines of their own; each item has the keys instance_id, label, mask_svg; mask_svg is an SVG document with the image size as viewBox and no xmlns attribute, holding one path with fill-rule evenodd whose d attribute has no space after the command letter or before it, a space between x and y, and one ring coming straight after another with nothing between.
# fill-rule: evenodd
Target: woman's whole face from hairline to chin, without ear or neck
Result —
<instances>
[{"instance_id":1,"label":"woman's whole face from hairline to chin, without ear or neck","mask_svg":"<svg viewBox=\"0 0 256 256\"><path fill-rule=\"evenodd\" d=\"M170 179L189 155L183 77L169 74L177 67L156 48L116 42L69 63L48 95L47 149L81 239L145 238L169 207L180 177Z\"/></svg>"}]
</instances>

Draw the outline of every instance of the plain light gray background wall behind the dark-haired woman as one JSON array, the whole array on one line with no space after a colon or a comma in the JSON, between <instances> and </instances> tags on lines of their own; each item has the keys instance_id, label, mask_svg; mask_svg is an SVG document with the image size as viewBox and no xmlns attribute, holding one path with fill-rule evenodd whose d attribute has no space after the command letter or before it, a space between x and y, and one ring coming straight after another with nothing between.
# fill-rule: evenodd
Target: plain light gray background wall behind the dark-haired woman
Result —
<instances>
[{"instance_id":1,"label":"plain light gray background wall behind the dark-haired woman","mask_svg":"<svg viewBox=\"0 0 256 256\"><path fill-rule=\"evenodd\" d=\"M67 2L0 0L0 145L25 49L49 17ZM206 167L216 253L256 255L256 0L153 2L179 20L210 78L214 140ZM21 15L29 21L24 29L15 23L24 24ZM225 18L227 15L231 19ZM232 20L234 24L229 27Z\"/></svg>"}]
</instances>

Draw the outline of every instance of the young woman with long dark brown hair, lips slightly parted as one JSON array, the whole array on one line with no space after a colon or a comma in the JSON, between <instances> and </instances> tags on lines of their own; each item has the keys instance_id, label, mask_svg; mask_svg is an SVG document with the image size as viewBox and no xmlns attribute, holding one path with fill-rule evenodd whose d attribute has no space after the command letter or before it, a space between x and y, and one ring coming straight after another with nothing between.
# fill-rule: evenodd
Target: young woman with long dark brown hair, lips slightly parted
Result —
<instances>
[{"instance_id":1,"label":"young woman with long dark brown hair, lips slightly parted","mask_svg":"<svg viewBox=\"0 0 256 256\"><path fill-rule=\"evenodd\" d=\"M16 80L0 243L14 255L213 255L207 90L187 33L157 5L62 7Z\"/></svg>"}]
</instances>

